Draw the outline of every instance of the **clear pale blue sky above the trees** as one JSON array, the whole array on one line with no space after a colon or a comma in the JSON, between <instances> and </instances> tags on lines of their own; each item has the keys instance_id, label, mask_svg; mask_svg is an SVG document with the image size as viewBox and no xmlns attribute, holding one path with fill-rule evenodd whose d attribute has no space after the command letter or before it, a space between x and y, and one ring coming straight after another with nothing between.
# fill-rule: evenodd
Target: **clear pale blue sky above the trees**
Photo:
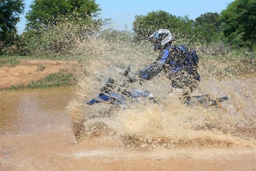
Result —
<instances>
[{"instance_id":1,"label":"clear pale blue sky above the trees","mask_svg":"<svg viewBox=\"0 0 256 171\"><path fill-rule=\"evenodd\" d=\"M18 33L26 27L26 12L33 0L25 0L25 12L17 24ZM176 16L188 15L195 19L206 12L218 12L226 9L231 0L96 0L101 11L99 17L111 18L111 28L116 30L133 29L135 15L146 15L151 11L163 10ZM126 26L126 27L125 27Z\"/></svg>"}]
</instances>

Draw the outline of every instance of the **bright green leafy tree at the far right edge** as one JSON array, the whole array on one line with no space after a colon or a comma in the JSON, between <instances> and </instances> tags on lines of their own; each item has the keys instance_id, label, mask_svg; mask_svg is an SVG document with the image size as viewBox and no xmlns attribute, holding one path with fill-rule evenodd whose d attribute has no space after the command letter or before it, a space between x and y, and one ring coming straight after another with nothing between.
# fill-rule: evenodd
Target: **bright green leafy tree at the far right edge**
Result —
<instances>
[{"instance_id":1,"label":"bright green leafy tree at the far right edge","mask_svg":"<svg viewBox=\"0 0 256 171\"><path fill-rule=\"evenodd\" d=\"M221 12L221 27L232 46L252 48L255 45L255 9L255 0L236 0Z\"/></svg>"}]
</instances>

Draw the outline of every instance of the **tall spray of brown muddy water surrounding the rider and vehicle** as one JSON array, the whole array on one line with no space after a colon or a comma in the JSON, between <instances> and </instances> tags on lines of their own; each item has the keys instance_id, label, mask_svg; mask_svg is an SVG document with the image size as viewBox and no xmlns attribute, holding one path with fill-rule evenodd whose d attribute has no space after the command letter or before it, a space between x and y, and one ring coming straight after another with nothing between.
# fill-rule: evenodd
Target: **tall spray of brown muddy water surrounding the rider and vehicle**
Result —
<instances>
[{"instance_id":1,"label":"tall spray of brown muddy water surrounding the rider and vehicle","mask_svg":"<svg viewBox=\"0 0 256 171\"><path fill-rule=\"evenodd\" d=\"M108 39L109 38L109 39ZM196 105L188 107L181 104L178 97L169 93L170 81L160 73L141 87L160 99L161 104L149 101L139 101L127 105L125 110L114 110L111 117L101 117L109 113L110 104L87 106L85 103L98 95L99 89L109 76L120 85L125 79L123 72L132 65L132 74L150 64L157 54L151 45L119 39L108 34L105 37L92 37L82 41L75 52L89 54L84 57L83 69L85 75L80 78L74 100L68 106L73 123L76 125L75 135L81 138L82 127L92 122L100 123L89 126L86 138L93 136L117 135L120 144L126 147L183 147L183 146L249 146L255 147L255 96L244 99L248 92L255 92L252 82L243 82L238 74L254 71L253 66L236 68L237 60L227 61L224 56L207 57L212 52L199 51L199 71L202 82L195 95L209 94L210 97L229 96L230 100L220 108ZM186 42L184 42L186 44ZM198 47L200 49L200 47ZM91 55L90 55L91 54ZM222 55L229 55L225 52ZM236 58L238 59L238 58ZM225 62L223 62L223 60ZM252 68L251 68L252 67ZM225 80L234 80L229 84ZM237 92L241 85L246 89ZM250 93L249 93L250 94ZM255 94L255 93L254 93ZM92 115L97 116L93 120ZM109 114L107 114L109 115ZM89 121L90 120L90 121ZM88 133L90 136L88 136Z\"/></svg>"}]
</instances>

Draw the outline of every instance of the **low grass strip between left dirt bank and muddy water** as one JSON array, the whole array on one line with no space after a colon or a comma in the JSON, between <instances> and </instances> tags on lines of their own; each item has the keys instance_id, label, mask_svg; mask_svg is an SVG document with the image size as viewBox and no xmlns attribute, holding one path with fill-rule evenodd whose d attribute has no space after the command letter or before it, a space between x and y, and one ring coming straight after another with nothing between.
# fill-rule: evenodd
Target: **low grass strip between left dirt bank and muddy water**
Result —
<instances>
[{"instance_id":1,"label":"low grass strip between left dirt bank and muddy water","mask_svg":"<svg viewBox=\"0 0 256 171\"><path fill-rule=\"evenodd\" d=\"M57 86L72 86L76 84L76 78L72 73L57 72L49 74L45 78L37 81L32 81L28 85L19 84L11 86L7 90L20 90L20 89L36 89L36 88L49 88Z\"/></svg>"}]
</instances>

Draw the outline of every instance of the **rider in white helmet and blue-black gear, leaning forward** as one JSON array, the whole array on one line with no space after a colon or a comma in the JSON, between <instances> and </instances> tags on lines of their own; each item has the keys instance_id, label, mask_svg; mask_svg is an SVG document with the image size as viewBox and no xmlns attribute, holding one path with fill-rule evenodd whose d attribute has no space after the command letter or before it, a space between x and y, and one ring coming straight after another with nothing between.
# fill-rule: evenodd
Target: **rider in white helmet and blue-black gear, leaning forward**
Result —
<instances>
[{"instance_id":1,"label":"rider in white helmet and blue-black gear, leaning forward","mask_svg":"<svg viewBox=\"0 0 256 171\"><path fill-rule=\"evenodd\" d=\"M154 43L154 50L160 51L158 58L148 67L139 71L141 80L150 80L163 71L172 81L172 90L182 91L184 99L198 87L201 80L198 74L198 56L195 50L188 50L184 45L172 45L173 35L170 31L161 29L155 31L148 40ZM131 80L134 82L138 79Z\"/></svg>"}]
</instances>

